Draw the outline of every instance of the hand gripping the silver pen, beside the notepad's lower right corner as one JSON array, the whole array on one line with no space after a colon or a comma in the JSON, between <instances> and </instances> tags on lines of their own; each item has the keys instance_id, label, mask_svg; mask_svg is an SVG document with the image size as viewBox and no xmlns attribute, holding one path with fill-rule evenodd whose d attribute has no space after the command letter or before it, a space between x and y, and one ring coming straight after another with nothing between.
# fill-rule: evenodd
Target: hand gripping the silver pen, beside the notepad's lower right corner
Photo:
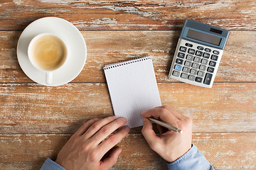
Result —
<instances>
[{"instance_id":1,"label":"hand gripping the silver pen, beside the notepad's lower right corner","mask_svg":"<svg viewBox=\"0 0 256 170\"><path fill-rule=\"evenodd\" d=\"M144 135L149 147L158 153L167 162L174 162L191 148L192 120L177 113L169 106L160 106L142 113L144 117L142 135ZM161 135L157 136L153 126L147 118L156 117L182 130L182 133L173 130L159 128Z\"/></svg>"}]
</instances>

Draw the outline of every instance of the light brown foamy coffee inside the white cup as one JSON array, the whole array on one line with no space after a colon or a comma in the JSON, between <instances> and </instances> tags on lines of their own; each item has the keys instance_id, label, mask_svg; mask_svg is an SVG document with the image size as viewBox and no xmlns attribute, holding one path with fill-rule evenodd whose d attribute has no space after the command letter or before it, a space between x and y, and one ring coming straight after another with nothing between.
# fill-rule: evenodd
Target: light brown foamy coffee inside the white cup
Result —
<instances>
[{"instance_id":1,"label":"light brown foamy coffee inside the white cup","mask_svg":"<svg viewBox=\"0 0 256 170\"><path fill-rule=\"evenodd\" d=\"M66 49L63 41L53 35L45 35L33 43L33 61L45 70L60 67L66 58Z\"/></svg>"}]
</instances>

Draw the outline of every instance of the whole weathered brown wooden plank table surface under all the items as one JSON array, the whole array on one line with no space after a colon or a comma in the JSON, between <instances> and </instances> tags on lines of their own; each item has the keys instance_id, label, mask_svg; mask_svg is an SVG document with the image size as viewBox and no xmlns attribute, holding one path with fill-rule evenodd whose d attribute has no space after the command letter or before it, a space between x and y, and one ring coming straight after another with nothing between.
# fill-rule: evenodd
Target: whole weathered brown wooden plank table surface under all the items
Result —
<instances>
[{"instance_id":1,"label":"whole weathered brown wooden plank table surface under all the items","mask_svg":"<svg viewBox=\"0 0 256 170\"><path fill-rule=\"evenodd\" d=\"M58 87L26 77L16 45L29 23L64 18L80 29L87 61ZM231 30L212 89L168 79L186 18ZM0 169L39 169L82 123L113 115L102 67L151 55L161 102L193 119L193 143L215 169L256 169L256 1L0 2ZM141 128L119 143L112 169L166 169Z\"/></svg>"}]
</instances>

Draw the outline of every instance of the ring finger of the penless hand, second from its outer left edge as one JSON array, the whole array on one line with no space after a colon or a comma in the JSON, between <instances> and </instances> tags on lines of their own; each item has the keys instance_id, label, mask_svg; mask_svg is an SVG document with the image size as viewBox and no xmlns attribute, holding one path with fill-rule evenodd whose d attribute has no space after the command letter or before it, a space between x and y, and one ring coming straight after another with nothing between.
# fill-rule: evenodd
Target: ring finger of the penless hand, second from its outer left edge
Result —
<instances>
[{"instance_id":1,"label":"ring finger of the penless hand, second from its outer left edge","mask_svg":"<svg viewBox=\"0 0 256 170\"><path fill-rule=\"evenodd\" d=\"M102 128L103 126L107 125L108 123L111 123L113 120L117 119L117 116L109 116L107 118L104 118L102 120L98 120L97 122L93 123L90 128L84 133L84 137L85 138L90 138L93 135L95 135L95 133L100 130L100 128Z\"/></svg>"}]
</instances>

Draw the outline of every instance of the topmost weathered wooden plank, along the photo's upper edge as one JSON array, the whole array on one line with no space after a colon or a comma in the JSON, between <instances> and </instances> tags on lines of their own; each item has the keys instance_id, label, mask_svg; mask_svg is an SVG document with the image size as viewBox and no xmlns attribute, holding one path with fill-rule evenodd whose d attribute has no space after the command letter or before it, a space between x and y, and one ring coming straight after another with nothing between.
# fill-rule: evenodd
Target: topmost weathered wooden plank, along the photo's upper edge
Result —
<instances>
[{"instance_id":1,"label":"topmost weathered wooden plank, along the photo's upper edge","mask_svg":"<svg viewBox=\"0 0 256 170\"><path fill-rule=\"evenodd\" d=\"M187 18L232 30L256 29L253 0L1 0L0 6L0 30L23 30L46 16L64 18L80 30L174 30Z\"/></svg>"}]
</instances>

